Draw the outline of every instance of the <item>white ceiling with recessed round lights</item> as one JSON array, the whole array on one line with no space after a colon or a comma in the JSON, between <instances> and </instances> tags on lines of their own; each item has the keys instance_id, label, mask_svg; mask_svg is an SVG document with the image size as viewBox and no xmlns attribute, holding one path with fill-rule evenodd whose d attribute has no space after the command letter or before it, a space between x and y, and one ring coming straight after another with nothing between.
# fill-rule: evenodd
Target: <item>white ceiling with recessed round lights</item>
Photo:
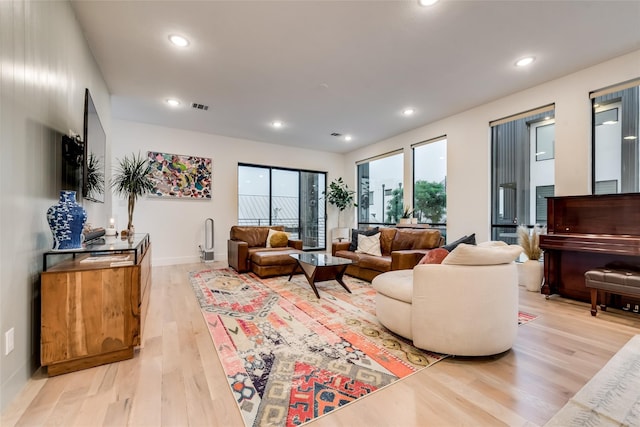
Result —
<instances>
[{"instance_id":1,"label":"white ceiling with recessed round lights","mask_svg":"<svg viewBox=\"0 0 640 427\"><path fill-rule=\"evenodd\" d=\"M72 5L113 117L338 153L640 49L636 0Z\"/></svg>"}]
</instances>

